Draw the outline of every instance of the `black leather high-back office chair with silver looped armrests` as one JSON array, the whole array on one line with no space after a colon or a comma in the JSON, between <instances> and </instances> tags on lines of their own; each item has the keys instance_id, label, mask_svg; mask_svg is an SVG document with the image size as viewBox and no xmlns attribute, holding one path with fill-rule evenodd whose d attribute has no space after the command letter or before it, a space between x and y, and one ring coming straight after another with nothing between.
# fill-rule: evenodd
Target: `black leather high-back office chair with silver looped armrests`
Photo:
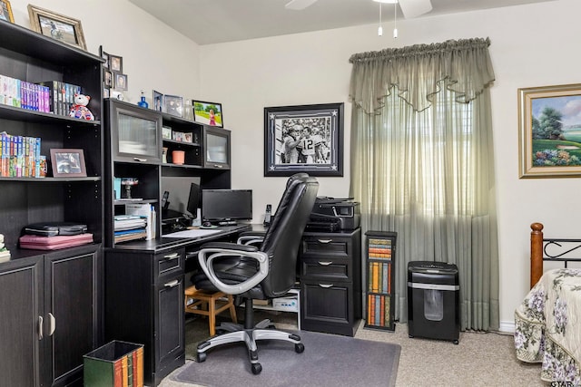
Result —
<instances>
[{"instance_id":1,"label":"black leather high-back office chair with silver looped armrests","mask_svg":"<svg viewBox=\"0 0 581 387\"><path fill-rule=\"evenodd\" d=\"M296 262L300 238L309 220L317 198L319 183L309 176L293 177L282 195L276 217L271 222L260 247L235 243L211 242L204 244L198 259L202 272L194 275L196 288L219 289L229 295L244 298L244 325L224 323L218 334L198 344L198 363L206 360L206 352L225 343L244 342L248 347L251 371L262 371L258 363L258 340L284 340L295 344L295 351L302 353L304 345L300 336L268 329L270 320L254 325L252 299L271 299L286 295L296 279ZM232 260L232 257L240 259ZM221 264L225 259L226 264ZM231 263L235 261L235 263Z\"/></svg>"}]
</instances>

